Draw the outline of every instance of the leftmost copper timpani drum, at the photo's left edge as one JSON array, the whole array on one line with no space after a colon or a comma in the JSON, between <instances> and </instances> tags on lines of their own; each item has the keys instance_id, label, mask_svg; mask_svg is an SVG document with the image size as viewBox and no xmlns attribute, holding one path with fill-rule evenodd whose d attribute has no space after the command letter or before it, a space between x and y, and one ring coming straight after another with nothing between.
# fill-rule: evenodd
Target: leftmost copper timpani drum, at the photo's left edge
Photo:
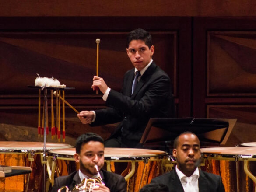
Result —
<instances>
[{"instance_id":1,"label":"leftmost copper timpani drum, at the photo's left edge","mask_svg":"<svg viewBox=\"0 0 256 192\"><path fill-rule=\"evenodd\" d=\"M41 154L44 143L42 142L19 142L0 141L0 164L8 166L29 166L32 168L30 176L17 175L1 178L1 191L25 191L25 183L29 178L29 191L42 191L39 186L42 183ZM65 143L46 143L46 150L70 148ZM34 161L35 160L35 161Z\"/></svg>"}]
</instances>

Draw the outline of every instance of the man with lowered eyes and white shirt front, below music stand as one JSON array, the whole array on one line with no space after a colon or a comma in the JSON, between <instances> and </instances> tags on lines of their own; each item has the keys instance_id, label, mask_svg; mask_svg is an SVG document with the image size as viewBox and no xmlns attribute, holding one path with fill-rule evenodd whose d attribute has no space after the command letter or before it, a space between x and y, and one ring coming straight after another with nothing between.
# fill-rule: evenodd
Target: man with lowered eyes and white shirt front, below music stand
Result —
<instances>
[{"instance_id":1,"label":"man with lowered eyes and white shirt front, below music stand","mask_svg":"<svg viewBox=\"0 0 256 192\"><path fill-rule=\"evenodd\" d=\"M167 185L169 191L225 191L219 175L198 169L200 141L195 134L180 134L173 147L172 155L177 160L177 166L173 171L152 179L150 185Z\"/></svg>"}]
</instances>

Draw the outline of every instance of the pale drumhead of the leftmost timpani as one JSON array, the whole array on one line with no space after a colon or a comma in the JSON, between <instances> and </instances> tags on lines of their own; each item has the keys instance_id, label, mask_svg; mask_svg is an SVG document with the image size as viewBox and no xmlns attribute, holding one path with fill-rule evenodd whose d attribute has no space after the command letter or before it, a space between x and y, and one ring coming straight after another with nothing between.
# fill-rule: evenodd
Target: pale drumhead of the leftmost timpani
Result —
<instances>
[{"instance_id":1,"label":"pale drumhead of the leftmost timpani","mask_svg":"<svg viewBox=\"0 0 256 192\"><path fill-rule=\"evenodd\" d=\"M25 141L0 141L0 151L8 150L35 150L43 151L43 142L25 142ZM71 148L70 144L66 143L46 143L46 150Z\"/></svg>"}]
</instances>

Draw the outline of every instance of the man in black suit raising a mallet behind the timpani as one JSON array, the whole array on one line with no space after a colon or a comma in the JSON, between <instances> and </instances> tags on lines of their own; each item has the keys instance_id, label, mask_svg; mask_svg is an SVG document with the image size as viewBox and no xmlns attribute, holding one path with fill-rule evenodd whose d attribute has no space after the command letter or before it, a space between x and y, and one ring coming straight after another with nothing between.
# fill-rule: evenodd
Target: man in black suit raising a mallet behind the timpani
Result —
<instances>
[{"instance_id":1,"label":"man in black suit raising a mallet behind the timpani","mask_svg":"<svg viewBox=\"0 0 256 192\"><path fill-rule=\"evenodd\" d=\"M92 126L121 122L105 147L139 147L150 118L174 116L171 80L152 59L151 35L135 29L129 33L126 47L135 68L125 73L121 93L110 89L101 77L94 76L92 88L100 89L109 108L77 115L82 123Z\"/></svg>"}]
</instances>

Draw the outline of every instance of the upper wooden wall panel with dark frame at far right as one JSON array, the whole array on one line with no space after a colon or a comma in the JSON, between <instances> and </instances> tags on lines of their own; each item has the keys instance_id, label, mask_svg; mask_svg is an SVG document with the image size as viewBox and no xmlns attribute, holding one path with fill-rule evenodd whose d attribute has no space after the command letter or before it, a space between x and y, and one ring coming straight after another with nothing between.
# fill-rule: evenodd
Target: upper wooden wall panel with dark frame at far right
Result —
<instances>
[{"instance_id":1,"label":"upper wooden wall panel with dark frame at far right","mask_svg":"<svg viewBox=\"0 0 256 192\"><path fill-rule=\"evenodd\" d=\"M255 105L255 17L195 17L193 113L207 105Z\"/></svg>"}]
</instances>

